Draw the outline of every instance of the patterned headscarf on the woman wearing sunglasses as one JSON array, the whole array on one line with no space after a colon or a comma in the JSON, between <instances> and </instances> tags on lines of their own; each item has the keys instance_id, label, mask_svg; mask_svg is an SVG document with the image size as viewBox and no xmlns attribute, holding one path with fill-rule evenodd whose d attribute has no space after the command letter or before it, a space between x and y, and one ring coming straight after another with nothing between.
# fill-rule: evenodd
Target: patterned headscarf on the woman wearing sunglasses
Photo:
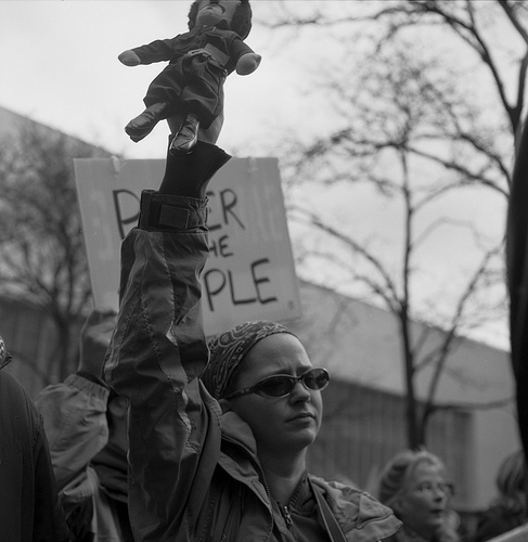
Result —
<instances>
[{"instance_id":1,"label":"patterned headscarf on the woman wearing sunglasses","mask_svg":"<svg viewBox=\"0 0 528 542\"><path fill-rule=\"evenodd\" d=\"M224 395L229 380L244 356L261 339L289 330L275 322L259 320L245 322L209 340L209 365L202 375L209 393L216 399Z\"/></svg>"}]
</instances>

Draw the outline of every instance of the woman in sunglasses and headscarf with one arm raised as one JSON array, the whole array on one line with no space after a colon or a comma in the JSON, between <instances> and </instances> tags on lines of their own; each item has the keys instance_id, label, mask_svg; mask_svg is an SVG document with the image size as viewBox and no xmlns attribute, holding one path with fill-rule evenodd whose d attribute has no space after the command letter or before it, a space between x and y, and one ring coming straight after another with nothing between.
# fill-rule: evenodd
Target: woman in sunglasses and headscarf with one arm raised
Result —
<instances>
[{"instance_id":1,"label":"woman in sunglasses and headscarf with one arm raised","mask_svg":"<svg viewBox=\"0 0 528 542\"><path fill-rule=\"evenodd\" d=\"M129 399L138 541L377 542L399 521L369 494L306 470L329 373L297 337L248 322L210 343L201 314L206 186L229 157L167 156L124 241L107 383Z\"/></svg>"}]
</instances>

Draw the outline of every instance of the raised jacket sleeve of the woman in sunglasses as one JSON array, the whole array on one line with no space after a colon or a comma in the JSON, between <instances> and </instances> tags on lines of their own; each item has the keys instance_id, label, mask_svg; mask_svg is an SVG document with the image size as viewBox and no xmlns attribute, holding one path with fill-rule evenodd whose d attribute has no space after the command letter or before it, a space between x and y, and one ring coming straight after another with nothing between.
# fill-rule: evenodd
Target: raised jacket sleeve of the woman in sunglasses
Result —
<instances>
[{"instance_id":1,"label":"raised jacket sleeve of the woman in sunglasses","mask_svg":"<svg viewBox=\"0 0 528 542\"><path fill-rule=\"evenodd\" d=\"M208 255L206 204L162 197L181 199L171 212L188 224L203 216L204 225L136 228L125 238L119 313L104 370L130 401L129 508L143 541L177 540L184 518L192 528L189 515L199 508L220 447L220 409L197 378L208 362L199 283Z\"/></svg>"}]
</instances>

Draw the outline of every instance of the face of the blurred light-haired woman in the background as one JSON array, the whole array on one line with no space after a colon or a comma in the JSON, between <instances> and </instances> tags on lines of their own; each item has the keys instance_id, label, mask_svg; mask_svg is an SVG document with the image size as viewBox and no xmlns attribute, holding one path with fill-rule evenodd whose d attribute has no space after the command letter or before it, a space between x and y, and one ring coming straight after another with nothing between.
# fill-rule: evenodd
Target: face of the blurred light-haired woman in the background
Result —
<instances>
[{"instance_id":1,"label":"face of the blurred light-haired woman in the background","mask_svg":"<svg viewBox=\"0 0 528 542\"><path fill-rule=\"evenodd\" d=\"M403 524L426 540L448 519L451 486L446 482L439 465L420 463L408 488L395 503Z\"/></svg>"}]
</instances>

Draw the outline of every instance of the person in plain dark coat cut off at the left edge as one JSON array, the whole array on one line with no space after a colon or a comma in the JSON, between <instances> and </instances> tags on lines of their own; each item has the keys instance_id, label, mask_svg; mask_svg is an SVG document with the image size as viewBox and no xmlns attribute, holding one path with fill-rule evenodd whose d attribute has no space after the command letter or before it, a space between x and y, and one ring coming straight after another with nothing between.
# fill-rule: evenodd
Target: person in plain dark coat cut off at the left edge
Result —
<instances>
[{"instance_id":1,"label":"person in plain dark coat cut off at the left edge","mask_svg":"<svg viewBox=\"0 0 528 542\"><path fill-rule=\"evenodd\" d=\"M66 542L42 416L4 371L10 361L0 337L0 540Z\"/></svg>"}]
</instances>

